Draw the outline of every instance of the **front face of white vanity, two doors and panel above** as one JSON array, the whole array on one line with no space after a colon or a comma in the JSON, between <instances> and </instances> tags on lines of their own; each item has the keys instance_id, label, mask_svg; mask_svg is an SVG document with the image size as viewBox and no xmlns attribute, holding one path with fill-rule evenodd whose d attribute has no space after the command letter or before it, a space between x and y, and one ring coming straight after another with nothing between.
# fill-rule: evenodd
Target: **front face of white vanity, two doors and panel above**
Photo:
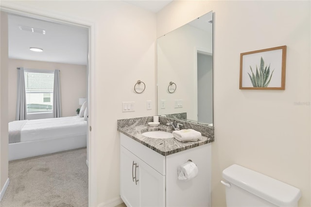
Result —
<instances>
[{"instance_id":1,"label":"front face of white vanity, two doors and panel above","mask_svg":"<svg viewBox=\"0 0 311 207\"><path fill-rule=\"evenodd\" d=\"M154 163L161 162L161 157L135 142L121 135L121 198L127 207L164 207L165 175L152 167ZM138 157L139 151L144 152L144 158L151 160L151 166L141 159L143 157ZM156 158L160 159L156 162Z\"/></svg>"}]
</instances>

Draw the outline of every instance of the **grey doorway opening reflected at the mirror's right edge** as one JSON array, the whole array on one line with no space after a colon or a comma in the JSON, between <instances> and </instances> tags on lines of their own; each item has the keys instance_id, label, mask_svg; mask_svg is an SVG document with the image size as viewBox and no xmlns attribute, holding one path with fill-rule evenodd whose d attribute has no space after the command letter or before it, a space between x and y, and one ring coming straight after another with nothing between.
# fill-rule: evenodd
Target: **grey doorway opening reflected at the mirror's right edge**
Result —
<instances>
[{"instance_id":1,"label":"grey doorway opening reflected at the mirror's right edge","mask_svg":"<svg viewBox=\"0 0 311 207\"><path fill-rule=\"evenodd\" d=\"M197 52L198 122L213 123L213 62L212 55Z\"/></svg>"}]
</instances>

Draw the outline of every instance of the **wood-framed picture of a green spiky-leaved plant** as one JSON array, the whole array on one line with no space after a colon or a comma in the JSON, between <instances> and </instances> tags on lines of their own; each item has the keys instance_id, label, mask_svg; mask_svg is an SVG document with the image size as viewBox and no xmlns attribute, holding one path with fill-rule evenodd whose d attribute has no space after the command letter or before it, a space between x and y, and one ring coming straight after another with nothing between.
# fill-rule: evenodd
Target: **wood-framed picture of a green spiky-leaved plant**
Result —
<instances>
[{"instance_id":1,"label":"wood-framed picture of a green spiky-leaved plant","mask_svg":"<svg viewBox=\"0 0 311 207\"><path fill-rule=\"evenodd\" d=\"M241 53L240 89L285 89L286 45Z\"/></svg>"}]
</instances>

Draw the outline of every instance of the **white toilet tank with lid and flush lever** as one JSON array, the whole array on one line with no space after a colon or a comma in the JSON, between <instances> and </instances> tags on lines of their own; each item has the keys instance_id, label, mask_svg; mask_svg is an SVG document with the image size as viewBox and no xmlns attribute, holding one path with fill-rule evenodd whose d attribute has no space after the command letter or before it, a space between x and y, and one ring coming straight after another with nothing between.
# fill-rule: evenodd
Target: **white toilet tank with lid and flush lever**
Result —
<instances>
[{"instance_id":1,"label":"white toilet tank with lid and flush lever","mask_svg":"<svg viewBox=\"0 0 311 207\"><path fill-rule=\"evenodd\" d=\"M227 207L297 207L301 197L299 189L236 164L223 178Z\"/></svg>"}]
</instances>

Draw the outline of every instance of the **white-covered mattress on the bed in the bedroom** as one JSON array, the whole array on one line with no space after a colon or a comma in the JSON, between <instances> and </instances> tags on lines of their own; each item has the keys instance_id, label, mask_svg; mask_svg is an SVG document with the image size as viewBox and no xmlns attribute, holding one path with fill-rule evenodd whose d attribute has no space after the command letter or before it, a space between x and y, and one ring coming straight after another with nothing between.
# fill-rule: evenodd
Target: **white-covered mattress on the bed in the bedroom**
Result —
<instances>
[{"instance_id":1,"label":"white-covered mattress on the bed in the bedroom","mask_svg":"<svg viewBox=\"0 0 311 207\"><path fill-rule=\"evenodd\" d=\"M10 138L12 129L22 125L19 121L9 123L9 143L14 143ZM64 136L82 135L87 132L87 123L79 116L61 117L51 119L27 120L20 130L20 141L34 141L38 139L58 138Z\"/></svg>"}]
</instances>

